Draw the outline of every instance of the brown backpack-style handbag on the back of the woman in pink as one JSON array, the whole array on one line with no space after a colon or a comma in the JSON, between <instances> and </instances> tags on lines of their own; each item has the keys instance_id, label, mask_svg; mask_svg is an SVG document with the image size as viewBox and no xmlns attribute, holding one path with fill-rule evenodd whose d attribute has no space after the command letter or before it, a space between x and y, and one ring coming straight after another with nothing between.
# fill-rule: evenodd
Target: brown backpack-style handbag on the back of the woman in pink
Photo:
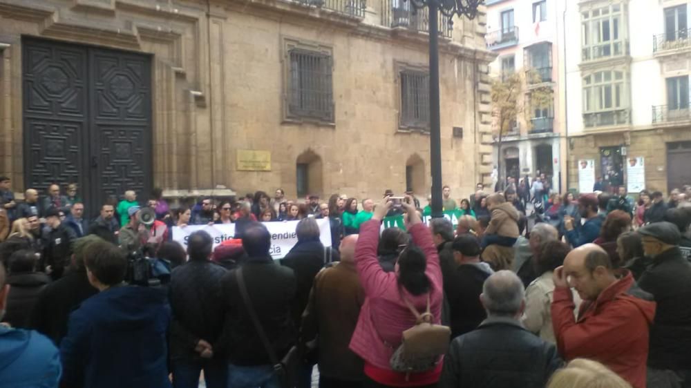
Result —
<instances>
[{"instance_id":1,"label":"brown backpack-style handbag on the back of the woman in pink","mask_svg":"<svg viewBox=\"0 0 691 388\"><path fill-rule=\"evenodd\" d=\"M448 351L451 329L435 324L430 312L430 296L427 295L427 309L420 314L401 293L408 309L415 315L415 326L403 332L401 345L389 360L391 369L398 372L416 373L433 369Z\"/></svg>"}]
</instances>

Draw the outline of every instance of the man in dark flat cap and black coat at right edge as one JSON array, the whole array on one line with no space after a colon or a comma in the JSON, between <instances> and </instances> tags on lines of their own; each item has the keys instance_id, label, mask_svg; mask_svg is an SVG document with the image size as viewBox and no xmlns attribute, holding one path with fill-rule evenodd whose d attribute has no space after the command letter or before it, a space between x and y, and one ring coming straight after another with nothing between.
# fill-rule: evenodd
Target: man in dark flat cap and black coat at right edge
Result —
<instances>
[{"instance_id":1,"label":"man in dark flat cap and black coat at right edge","mask_svg":"<svg viewBox=\"0 0 691 388\"><path fill-rule=\"evenodd\" d=\"M657 303L650 330L648 387L688 387L691 384L691 263L681 257L679 229L657 222L638 229L643 253L652 258L638 286ZM681 385L676 385L679 380Z\"/></svg>"}]
</instances>

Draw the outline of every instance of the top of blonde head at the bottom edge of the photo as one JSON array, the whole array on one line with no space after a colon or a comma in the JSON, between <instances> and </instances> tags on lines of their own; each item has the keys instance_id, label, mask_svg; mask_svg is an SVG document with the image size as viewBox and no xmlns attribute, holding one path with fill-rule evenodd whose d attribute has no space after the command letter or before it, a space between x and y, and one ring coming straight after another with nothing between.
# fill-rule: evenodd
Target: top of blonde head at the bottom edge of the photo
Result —
<instances>
[{"instance_id":1,"label":"top of blonde head at the bottom edge of the photo","mask_svg":"<svg viewBox=\"0 0 691 388\"><path fill-rule=\"evenodd\" d=\"M547 388L632 388L623 378L600 362L576 358L556 371Z\"/></svg>"}]
</instances>

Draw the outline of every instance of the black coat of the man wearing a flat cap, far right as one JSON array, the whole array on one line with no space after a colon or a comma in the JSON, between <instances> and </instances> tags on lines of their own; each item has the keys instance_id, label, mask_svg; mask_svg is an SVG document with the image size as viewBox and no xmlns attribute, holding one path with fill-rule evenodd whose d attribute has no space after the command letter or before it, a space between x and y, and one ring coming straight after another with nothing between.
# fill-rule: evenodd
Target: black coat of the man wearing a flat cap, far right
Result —
<instances>
[{"instance_id":1,"label":"black coat of the man wearing a flat cap, far right","mask_svg":"<svg viewBox=\"0 0 691 388\"><path fill-rule=\"evenodd\" d=\"M656 369L688 369L691 365L691 263L679 248L656 256L638 286L657 303L650 329L648 365Z\"/></svg>"}]
</instances>

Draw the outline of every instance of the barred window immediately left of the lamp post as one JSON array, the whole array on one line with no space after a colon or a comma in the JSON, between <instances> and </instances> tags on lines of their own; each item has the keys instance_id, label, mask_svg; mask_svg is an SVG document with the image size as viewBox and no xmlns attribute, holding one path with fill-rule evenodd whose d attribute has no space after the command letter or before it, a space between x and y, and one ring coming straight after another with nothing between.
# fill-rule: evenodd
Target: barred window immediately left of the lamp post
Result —
<instances>
[{"instance_id":1,"label":"barred window immediately left of the lamp post","mask_svg":"<svg viewBox=\"0 0 691 388\"><path fill-rule=\"evenodd\" d=\"M401 71L401 128L430 128L430 76L427 72Z\"/></svg>"}]
</instances>

